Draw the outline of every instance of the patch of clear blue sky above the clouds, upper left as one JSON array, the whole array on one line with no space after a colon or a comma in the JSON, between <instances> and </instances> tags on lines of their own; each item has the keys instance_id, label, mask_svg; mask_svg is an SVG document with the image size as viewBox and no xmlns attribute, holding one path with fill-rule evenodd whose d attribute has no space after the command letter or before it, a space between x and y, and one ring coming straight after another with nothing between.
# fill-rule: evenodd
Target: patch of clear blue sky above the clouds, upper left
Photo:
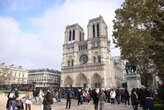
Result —
<instances>
[{"instance_id":1,"label":"patch of clear blue sky above the clouds, upper left","mask_svg":"<svg viewBox=\"0 0 164 110\"><path fill-rule=\"evenodd\" d=\"M28 23L32 17L41 17L49 8L57 8L64 0L0 0L0 16L12 17L22 31L34 31Z\"/></svg>"}]
</instances>

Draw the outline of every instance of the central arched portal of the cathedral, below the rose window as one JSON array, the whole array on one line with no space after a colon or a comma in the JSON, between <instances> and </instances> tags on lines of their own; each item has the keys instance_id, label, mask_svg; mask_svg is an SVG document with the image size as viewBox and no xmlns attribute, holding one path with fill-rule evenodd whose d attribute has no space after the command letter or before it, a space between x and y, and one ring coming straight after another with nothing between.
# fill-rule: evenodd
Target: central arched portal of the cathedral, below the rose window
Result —
<instances>
[{"instance_id":1,"label":"central arched portal of the cathedral, below the rose window","mask_svg":"<svg viewBox=\"0 0 164 110\"><path fill-rule=\"evenodd\" d=\"M87 77L80 73L79 75L77 75L76 77L76 87L87 87L88 86L88 80Z\"/></svg>"}]
</instances>

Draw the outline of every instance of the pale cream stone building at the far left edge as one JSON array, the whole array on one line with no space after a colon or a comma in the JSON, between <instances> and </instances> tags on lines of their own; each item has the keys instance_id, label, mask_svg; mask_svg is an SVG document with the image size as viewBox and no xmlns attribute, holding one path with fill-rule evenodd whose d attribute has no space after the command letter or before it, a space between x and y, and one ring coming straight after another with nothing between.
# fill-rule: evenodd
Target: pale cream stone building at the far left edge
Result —
<instances>
[{"instance_id":1,"label":"pale cream stone building at the far left edge","mask_svg":"<svg viewBox=\"0 0 164 110\"><path fill-rule=\"evenodd\" d=\"M0 64L0 83L2 85L27 84L28 73L22 66Z\"/></svg>"}]
</instances>

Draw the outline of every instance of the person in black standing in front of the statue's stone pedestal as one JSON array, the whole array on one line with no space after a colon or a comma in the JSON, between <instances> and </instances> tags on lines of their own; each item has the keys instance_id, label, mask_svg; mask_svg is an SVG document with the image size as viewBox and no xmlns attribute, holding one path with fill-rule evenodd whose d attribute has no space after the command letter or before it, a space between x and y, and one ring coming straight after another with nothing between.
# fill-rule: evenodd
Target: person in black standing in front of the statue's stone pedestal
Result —
<instances>
[{"instance_id":1,"label":"person in black standing in front of the statue's stone pedestal","mask_svg":"<svg viewBox=\"0 0 164 110\"><path fill-rule=\"evenodd\" d=\"M131 103L132 103L132 106L133 106L133 110L138 110L138 95L136 93L135 88L132 89Z\"/></svg>"}]
</instances>

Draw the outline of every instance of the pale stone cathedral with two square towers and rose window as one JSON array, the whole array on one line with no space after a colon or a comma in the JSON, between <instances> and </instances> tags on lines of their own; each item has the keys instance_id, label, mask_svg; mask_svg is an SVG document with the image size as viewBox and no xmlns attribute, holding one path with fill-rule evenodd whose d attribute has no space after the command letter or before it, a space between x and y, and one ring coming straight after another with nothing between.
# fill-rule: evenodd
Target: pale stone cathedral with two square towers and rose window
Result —
<instances>
[{"instance_id":1,"label":"pale stone cathedral with two square towers and rose window","mask_svg":"<svg viewBox=\"0 0 164 110\"><path fill-rule=\"evenodd\" d=\"M115 88L122 79L116 77L103 17L90 19L87 29L85 40L79 24L66 27L61 87Z\"/></svg>"}]
</instances>

